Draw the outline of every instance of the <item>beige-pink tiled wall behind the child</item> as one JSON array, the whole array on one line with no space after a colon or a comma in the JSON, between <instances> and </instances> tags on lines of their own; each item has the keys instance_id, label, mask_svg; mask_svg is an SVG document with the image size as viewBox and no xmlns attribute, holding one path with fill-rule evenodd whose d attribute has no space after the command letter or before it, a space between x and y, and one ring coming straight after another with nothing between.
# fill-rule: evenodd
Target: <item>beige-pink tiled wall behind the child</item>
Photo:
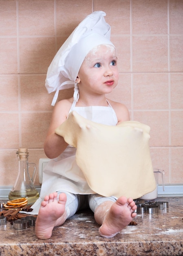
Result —
<instances>
[{"instance_id":1,"label":"beige-pink tiled wall behind the child","mask_svg":"<svg viewBox=\"0 0 183 256\"><path fill-rule=\"evenodd\" d=\"M107 14L119 58L119 85L108 97L151 127L154 168L165 170L166 184L183 184L183 0L0 0L0 186L15 181L19 147L29 148L29 162L45 157L47 68L96 10Z\"/></svg>"}]
</instances>

